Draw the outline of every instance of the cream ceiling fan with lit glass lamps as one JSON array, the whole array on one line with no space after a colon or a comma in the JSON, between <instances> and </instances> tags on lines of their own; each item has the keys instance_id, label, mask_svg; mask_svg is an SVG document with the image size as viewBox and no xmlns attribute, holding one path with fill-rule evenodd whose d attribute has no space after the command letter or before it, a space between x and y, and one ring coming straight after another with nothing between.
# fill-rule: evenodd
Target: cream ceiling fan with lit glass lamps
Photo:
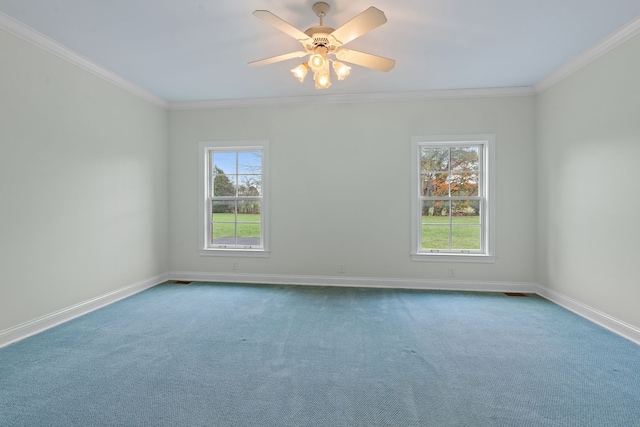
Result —
<instances>
[{"instance_id":1,"label":"cream ceiling fan with lit glass lamps","mask_svg":"<svg viewBox=\"0 0 640 427\"><path fill-rule=\"evenodd\" d=\"M327 27L322 22L329 11L329 5L327 3L315 3L312 9L318 18L320 18L320 25L313 26L304 32L268 10L254 11L253 15L256 18L262 19L278 30L298 40L304 50L253 61L250 62L249 65L268 65L309 55L309 59L306 62L303 62L291 70L291 72L302 82L309 69L311 69L313 71L316 88L318 89L326 89L331 86L329 63L333 64L333 70L338 76L338 80L343 80L351 71L351 67L340 61L380 71L389 71L395 66L396 61L393 59L342 47L387 22L387 17L380 9L372 6L338 29ZM330 59L328 55L333 55L336 59Z\"/></svg>"}]
</instances>

